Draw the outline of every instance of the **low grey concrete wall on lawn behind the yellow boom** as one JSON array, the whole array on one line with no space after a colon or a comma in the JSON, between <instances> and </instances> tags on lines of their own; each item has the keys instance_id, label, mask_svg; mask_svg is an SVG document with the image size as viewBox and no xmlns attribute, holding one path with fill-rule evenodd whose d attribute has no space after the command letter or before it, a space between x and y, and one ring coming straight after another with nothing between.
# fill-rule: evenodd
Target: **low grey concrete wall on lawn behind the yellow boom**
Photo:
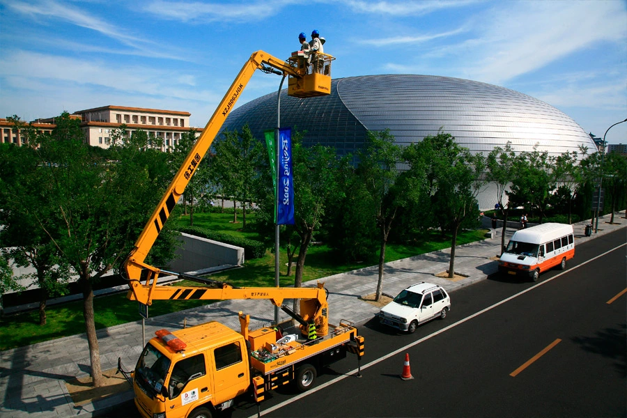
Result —
<instances>
[{"instance_id":1,"label":"low grey concrete wall on lawn behind the yellow boom","mask_svg":"<svg viewBox=\"0 0 627 418\"><path fill-rule=\"evenodd\" d=\"M207 238L181 233L181 246L168 266L175 272L192 272L217 265L243 265L244 249Z\"/></svg>"}]
</instances>

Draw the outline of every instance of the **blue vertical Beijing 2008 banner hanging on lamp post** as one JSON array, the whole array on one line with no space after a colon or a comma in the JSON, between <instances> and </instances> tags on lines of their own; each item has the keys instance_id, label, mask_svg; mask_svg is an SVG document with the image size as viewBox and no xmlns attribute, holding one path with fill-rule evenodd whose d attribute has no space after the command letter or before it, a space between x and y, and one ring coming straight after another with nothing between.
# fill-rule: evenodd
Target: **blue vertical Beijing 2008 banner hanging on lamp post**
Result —
<instances>
[{"instance_id":1,"label":"blue vertical Beijing 2008 banner hanging on lamp post","mask_svg":"<svg viewBox=\"0 0 627 418\"><path fill-rule=\"evenodd\" d=\"M292 175L292 130L279 129L279 208L277 225L294 224L294 184Z\"/></svg>"}]
</instances>

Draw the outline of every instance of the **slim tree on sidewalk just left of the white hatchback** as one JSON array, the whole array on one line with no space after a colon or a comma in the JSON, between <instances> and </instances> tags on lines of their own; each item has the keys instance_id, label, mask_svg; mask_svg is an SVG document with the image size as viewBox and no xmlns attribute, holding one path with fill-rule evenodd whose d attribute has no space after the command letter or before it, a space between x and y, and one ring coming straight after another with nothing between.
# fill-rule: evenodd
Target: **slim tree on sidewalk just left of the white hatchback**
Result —
<instances>
[{"instance_id":1,"label":"slim tree on sidewalk just left of the white hatchback","mask_svg":"<svg viewBox=\"0 0 627 418\"><path fill-rule=\"evenodd\" d=\"M366 190L372 196L375 222L379 231L379 276L376 300L383 293L383 266L385 265L385 247L389 231L396 218L398 209L403 206L403 194L396 187L398 169L401 160L401 148L394 144L394 137L389 130L368 132L366 146L357 153L357 177L362 180Z\"/></svg>"}]
</instances>

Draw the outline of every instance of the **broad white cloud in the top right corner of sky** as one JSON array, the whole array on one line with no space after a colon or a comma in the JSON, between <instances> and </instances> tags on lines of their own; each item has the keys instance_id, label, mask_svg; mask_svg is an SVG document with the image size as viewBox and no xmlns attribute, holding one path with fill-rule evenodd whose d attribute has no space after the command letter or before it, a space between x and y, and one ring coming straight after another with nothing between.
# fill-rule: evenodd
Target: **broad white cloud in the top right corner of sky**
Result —
<instances>
[{"instance_id":1,"label":"broad white cloud in the top right corner of sky","mask_svg":"<svg viewBox=\"0 0 627 418\"><path fill-rule=\"evenodd\" d=\"M474 23L475 58L466 72L494 84L543 68L598 42L625 42L624 3L620 1L503 2L504 8ZM467 43L467 42L465 42ZM467 45L460 45L460 51Z\"/></svg>"}]
</instances>

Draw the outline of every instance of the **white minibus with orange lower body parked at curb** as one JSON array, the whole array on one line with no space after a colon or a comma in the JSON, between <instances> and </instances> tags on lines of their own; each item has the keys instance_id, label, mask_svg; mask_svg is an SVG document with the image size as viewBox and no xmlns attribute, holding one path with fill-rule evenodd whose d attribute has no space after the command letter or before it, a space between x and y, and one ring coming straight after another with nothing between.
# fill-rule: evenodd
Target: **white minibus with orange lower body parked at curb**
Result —
<instances>
[{"instance_id":1,"label":"white minibus with orange lower body parked at curb","mask_svg":"<svg viewBox=\"0 0 627 418\"><path fill-rule=\"evenodd\" d=\"M556 265L566 268L575 256L573 226L541 224L516 231L499 260L499 272L522 275L532 281Z\"/></svg>"}]
</instances>

